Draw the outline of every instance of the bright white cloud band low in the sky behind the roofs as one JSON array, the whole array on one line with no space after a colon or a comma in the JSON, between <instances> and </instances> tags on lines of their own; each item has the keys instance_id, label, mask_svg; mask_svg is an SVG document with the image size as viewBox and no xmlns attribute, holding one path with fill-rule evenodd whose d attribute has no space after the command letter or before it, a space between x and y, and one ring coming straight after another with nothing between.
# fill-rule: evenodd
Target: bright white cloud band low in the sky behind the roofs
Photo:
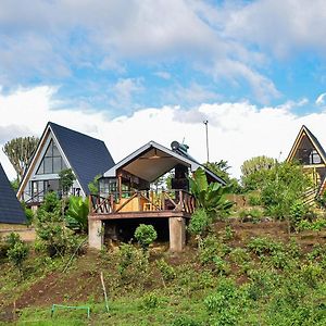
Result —
<instances>
[{"instance_id":1,"label":"bright white cloud band low in the sky behind the roofs","mask_svg":"<svg viewBox=\"0 0 326 326\"><path fill-rule=\"evenodd\" d=\"M326 113L297 116L288 104L279 108L256 108L248 102L201 104L191 111L179 106L149 108L131 116L108 121L103 113L80 110L51 110L55 89L38 87L0 93L1 146L12 137L41 135L48 121L86 133L105 141L115 161L123 159L149 140L166 147L173 140L185 142L190 153L205 161L205 129L209 120L210 159L227 160L234 175L239 176L241 163L254 155L285 159L301 127L305 124L326 145ZM178 118L185 116L185 120ZM13 123L14 122L14 123ZM9 130L12 129L12 133ZM16 130L21 130L17 135ZM25 135L22 135L26 133ZM0 161L10 178L14 171L4 154Z\"/></svg>"}]
</instances>

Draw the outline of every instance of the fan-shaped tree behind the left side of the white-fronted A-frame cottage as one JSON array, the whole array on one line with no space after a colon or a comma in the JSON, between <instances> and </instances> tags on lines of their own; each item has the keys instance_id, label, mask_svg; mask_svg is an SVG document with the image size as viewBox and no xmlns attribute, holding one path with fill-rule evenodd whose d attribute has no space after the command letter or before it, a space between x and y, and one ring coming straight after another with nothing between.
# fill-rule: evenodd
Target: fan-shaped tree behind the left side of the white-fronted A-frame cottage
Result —
<instances>
[{"instance_id":1,"label":"fan-shaped tree behind the left side of the white-fronted A-frame cottage","mask_svg":"<svg viewBox=\"0 0 326 326\"><path fill-rule=\"evenodd\" d=\"M21 181L25 168L28 166L29 160L38 145L37 137L18 137L4 143L2 151L13 165L17 180Z\"/></svg>"}]
</instances>

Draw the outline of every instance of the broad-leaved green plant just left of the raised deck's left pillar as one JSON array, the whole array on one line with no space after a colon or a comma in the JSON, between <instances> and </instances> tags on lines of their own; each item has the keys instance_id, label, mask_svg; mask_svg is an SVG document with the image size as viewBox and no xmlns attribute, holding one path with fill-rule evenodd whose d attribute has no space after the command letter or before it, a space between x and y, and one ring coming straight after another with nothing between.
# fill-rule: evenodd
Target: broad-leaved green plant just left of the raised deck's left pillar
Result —
<instances>
[{"instance_id":1,"label":"broad-leaved green plant just left of the raised deck's left pillar","mask_svg":"<svg viewBox=\"0 0 326 326\"><path fill-rule=\"evenodd\" d=\"M88 230L88 213L89 203L87 198L70 197L68 209L65 212L65 221L67 226L72 229L79 229L87 233Z\"/></svg>"}]
</instances>

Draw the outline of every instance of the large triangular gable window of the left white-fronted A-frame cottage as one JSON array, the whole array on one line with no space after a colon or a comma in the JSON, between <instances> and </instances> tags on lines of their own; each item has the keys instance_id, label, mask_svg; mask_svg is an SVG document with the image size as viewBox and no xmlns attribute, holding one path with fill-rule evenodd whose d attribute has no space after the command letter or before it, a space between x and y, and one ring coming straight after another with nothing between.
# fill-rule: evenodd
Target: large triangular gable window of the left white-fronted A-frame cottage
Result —
<instances>
[{"instance_id":1,"label":"large triangular gable window of the left white-fronted A-frame cottage","mask_svg":"<svg viewBox=\"0 0 326 326\"><path fill-rule=\"evenodd\" d=\"M51 140L36 174L53 174L64 168L66 168L66 165L60 155L57 145Z\"/></svg>"}]
</instances>

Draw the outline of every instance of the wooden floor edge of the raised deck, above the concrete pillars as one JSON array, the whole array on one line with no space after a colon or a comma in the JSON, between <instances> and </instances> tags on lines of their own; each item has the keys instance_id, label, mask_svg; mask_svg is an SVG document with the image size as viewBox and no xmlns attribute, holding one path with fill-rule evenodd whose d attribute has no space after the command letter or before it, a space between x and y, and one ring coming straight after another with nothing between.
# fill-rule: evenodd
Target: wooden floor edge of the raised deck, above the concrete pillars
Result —
<instances>
[{"instance_id":1,"label":"wooden floor edge of the raised deck, above the concrete pillars","mask_svg":"<svg viewBox=\"0 0 326 326\"><path fill-rule=\"evenodd\" d=\"M190 218L191 214L187 212L177 211L142 211L142 212L118 212L118 213L92 213L88 218L90 220L125 220L125 218L168 218L168 217L184 217Z\"/></svg>"}]
</instances>

